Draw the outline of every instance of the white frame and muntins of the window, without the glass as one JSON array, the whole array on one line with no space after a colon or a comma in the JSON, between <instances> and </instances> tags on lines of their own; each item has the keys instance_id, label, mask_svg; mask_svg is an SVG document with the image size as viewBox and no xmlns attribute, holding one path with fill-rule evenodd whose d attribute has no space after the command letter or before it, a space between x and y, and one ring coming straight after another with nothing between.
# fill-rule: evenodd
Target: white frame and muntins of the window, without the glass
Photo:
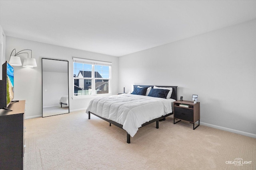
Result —
<instances>
[{"instance_id":1,"label":"white frame and muntins of the window, without the glass","mask_svg":"<svg viewBox=\"0 0 256 170\"><path fill-rule=\"evenodd\" d=\"M109 95L109 94L111 94L111 66L112 66L112 63L105 62L105 61L95 61L95 60L90 60L90 59L80 59L80 58L73 57L73 66L72 66L73 67L73 75L76 75L74 73L74 69L75 69L74 68L74 63L91 64L92 65L92 75L91 75L90 78L87 78L87 77L78 78L78 77L73 76L73 98L86 98L86 97L92 97L92 96L100 96L100 95ZM108 72L109 72L108 78L96 78L95 77L95 65L108 66ZM92 94L82 95L82 96L75 96L75 92L74 92L75 80L91 80ZM96 80L108 80L108 93L96 94L96 89L95 89Z\"/></svg>"}]
</instances>

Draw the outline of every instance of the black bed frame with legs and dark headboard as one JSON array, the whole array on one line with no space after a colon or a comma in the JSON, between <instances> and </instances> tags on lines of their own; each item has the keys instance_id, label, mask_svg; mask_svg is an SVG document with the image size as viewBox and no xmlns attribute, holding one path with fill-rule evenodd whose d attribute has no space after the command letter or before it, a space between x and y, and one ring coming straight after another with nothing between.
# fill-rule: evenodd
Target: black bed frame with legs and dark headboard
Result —
<instances>
[{"instance_id":1,"label":"black bed frame with legs and dark headboard","mask_svg":"<svg viewBox=\"0 0 256 170\"><path fill-rule=\"evenodd\" d=\"M137 86L140 86L140 87L150 87L150 86L134 85L134 87L137 87ZM151 86L151 87L153 88L154 86ZM174 100L177 100L177 86L158 86L158 87L171 87L171 88L172 88L172 96L171 96L171 98L174 99ZM94 114L94 113L92 113L92 112L89 111L89 112L88 112L88 119L90 119L90 114L96 115L96 114ZM153 120L151 120L151 121L148 121L148 122L146 122L146 123L143 123L143 124L141 125L141 127L146 126L146 125L148 125L148 124L150 124L150 123L156 122L156 129L158 129L158 128L159 128L159 120L164 119L165 117L170 116L170 115L172 115L172 114L173 114L173 113L168 113L168 114L166 114L166 115L163 115L163 116L158 117L158 118L156 118L156 119L153 119ZM97 116L97 117L100 117L99 115L96 115L96 116ZM119 123L116 123L115 121L106 119L106 118L104 118L104 117L100 117L100 118L103 119L103 120L105 120L105 121L107 121L107 122L109 122L109 126L111 126L111 124L113 124L113 125L115 125L115 126L117 126L117 127L120 127L121 129L123 129L123 125L121 125L121 124L119 124ZM130 134L128 134L128 133L127 133L127 143L130 143Z\"/></svg>"}]
</instances>

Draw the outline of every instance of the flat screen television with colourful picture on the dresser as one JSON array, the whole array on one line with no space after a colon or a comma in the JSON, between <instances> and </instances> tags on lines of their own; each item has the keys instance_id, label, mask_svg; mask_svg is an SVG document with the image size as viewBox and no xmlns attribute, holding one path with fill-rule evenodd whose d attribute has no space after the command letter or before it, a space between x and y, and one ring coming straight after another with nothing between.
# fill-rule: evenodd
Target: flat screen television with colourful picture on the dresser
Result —
<instances>
[{"instance_id":1,"label":"flat screen television with colourful picture on the dresser","mask_svg":"<svg viewBox=\"0 0 256 170\"><path fill-rule=\"evenodd\" d=\"M2 65L0 81L0 109L7 109L14 98L14 68L7 61Z\"/></svg>"}]
</instances>

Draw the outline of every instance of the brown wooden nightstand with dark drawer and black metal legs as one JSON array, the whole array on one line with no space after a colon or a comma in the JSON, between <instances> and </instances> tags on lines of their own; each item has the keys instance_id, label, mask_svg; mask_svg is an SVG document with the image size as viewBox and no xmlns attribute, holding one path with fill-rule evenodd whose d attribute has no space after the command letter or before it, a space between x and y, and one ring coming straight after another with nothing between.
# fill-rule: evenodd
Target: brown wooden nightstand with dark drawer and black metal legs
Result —
<instances>
[{"instance_id":1,"label":"brown wooden nightstand with dark drawer and black metal legs","mask_svg":"<svg viewBox=\"0 0 256 170\"><path fill-rule=\"evenodd\" d=\"M183 106L182 106L183 105ZM184 107L185 106L185 107ZM176 124L181 120L193 123L193 129L195 130L200 125L200 102L194 104L190 101L176 101L174 102L174 115L173 123ZM180 119L175 122L175 119ZM195 123L198 121L198 125L195 127Z\"/></svg>"}]
</instances>

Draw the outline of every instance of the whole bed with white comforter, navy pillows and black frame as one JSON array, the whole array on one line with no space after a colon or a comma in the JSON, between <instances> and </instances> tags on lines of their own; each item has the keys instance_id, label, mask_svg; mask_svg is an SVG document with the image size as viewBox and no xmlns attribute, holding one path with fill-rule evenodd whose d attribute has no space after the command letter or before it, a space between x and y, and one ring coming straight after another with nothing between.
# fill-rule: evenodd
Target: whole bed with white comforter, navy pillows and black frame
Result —
<instances>
[{"instance_id":1,"label":"whole bed with white comforter, navy pillows and black frame","mask_svg":"<svg viewBox=\"0 0 256 170\"><path fill-rule=\"evenodd\" d=\"M135 95L140 91L143 91L142 95ZM163 92L164 95L170 96L168 98L152 97L153 92ZM113 124L124 129L127 132L127 143L130 143L130 137L133 137L140 127L156 122L158 129L159 121L173 114L173 102L176 100L177 86L134 85L132 94L94 98L90 101L86 113L88 119L90 114L93 114L108 121L110 126Z\"/></svg>"}]
</instances>

